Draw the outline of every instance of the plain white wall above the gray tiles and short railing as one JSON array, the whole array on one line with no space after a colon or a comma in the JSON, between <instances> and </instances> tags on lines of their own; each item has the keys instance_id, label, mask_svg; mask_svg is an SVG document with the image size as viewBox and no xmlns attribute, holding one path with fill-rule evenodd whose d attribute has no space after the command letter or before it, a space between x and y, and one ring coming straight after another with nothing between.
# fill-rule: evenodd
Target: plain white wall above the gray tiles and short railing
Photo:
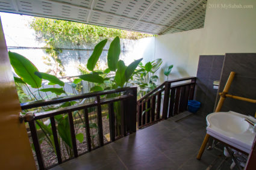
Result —
<instances>
[{"instance_id":1,"label":"plain white wall above the gray tiles and short railing","mask_svg":"<svg viewBox=\"0 0 256 170\"><path fill-rule=\"evenodd\" d=\"M229 4L253 8L223 7ZM174 64L170 79L196 76L199 55L256 52L256 1L208 0L204 28L154 38L154 58L145 56L144 61L162 58L163 66Z\"/></svg>"}]
</instances>

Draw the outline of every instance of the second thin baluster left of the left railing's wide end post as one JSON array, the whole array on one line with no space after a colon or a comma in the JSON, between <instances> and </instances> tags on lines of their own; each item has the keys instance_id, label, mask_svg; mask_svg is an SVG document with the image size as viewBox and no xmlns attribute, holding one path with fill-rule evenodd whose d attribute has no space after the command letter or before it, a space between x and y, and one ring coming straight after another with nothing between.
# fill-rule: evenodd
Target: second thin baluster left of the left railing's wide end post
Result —
<instances>
[{"instance_id":1,"label":"second thin baluster left of the left railing's wide end post","mask_svg":"<svg viewBox=\"0 0 256 170\"><path fill-rule=\"evenodd\" d=\"M98 122L98 135L99 135L99 145L102 147L104 145L103 129L102 129L102 114L101 114L101 99L99 96L97 98L97 122Z\"/></svg>"}]
</instances>

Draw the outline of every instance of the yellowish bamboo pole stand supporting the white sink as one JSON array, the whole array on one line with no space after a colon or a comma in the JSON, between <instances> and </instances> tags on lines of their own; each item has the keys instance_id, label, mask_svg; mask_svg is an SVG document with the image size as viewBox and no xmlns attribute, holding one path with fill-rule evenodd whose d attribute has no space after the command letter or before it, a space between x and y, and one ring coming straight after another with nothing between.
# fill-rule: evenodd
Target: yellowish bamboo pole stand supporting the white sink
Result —
<instances>
[{"instance_id":1,"label":"yellowish bamboo pole stand supporting the white sink","mask_svg":"<svg viewBox=\"0 0 256 170\"><path fill-rule=\"evenodd\" d=\"M231 71L231 73L229 74L229 77L228 77L228 80L226 81L226 85L225 85L225 88L223 90L222 93L219 93L220 95L220 99L219 99L219 103L215 109L215 112L219 112L220 109L222 108L222 105L223 105L223 102L224 100L226 99L226 97L231 97L233 99L238 99L238 100L243 100L243 101L246 101L246 102L251 102L251 103L256 103L256 100L252 100L252 99L247 99L245 97L239 97L239 96L232 96L232 95L229 95L228 94L228 90L231 86L231 83L234 79L234 76L235 76L235 72ZM202 157L202 154L204 153L204 150L205 150L205 147L207 145L207 142L209 140L209 137L210 135L206 134L205 137L204 137L204 141L202 142L202 145L201 145L201 148L198 152L198 156L196 156L196 159L201 159Z\"/></svg>"}]
</instances>

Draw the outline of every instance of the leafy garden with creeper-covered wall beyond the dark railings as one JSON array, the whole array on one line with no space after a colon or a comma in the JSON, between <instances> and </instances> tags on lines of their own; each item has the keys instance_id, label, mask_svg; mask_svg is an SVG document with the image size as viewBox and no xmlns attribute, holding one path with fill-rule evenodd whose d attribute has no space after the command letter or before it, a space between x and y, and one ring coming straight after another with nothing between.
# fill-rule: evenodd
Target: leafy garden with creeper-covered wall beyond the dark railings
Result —
<instances>
[{"instance_id":1,"label":"leafy garden with creeper-covered wall beyond the dark railings","mask_svg":"<svg viewBox=\"0 0 256 170\"><path fill-rule=\"evenodd\" d=\"M122 31L100 26L85 25L63 20L52 20L35 18L31 23L40 40L45 41L45 64L51 69L40 72L26 56L9 51L10 62L14 70L14 81L17 87L17 94L20 103L51 100L56 97L66 97L86 92L114 90L117 88L136 86L138 87L137 99L154 90L158 84L158 76L155 74L160 69L161 58L154 61L143 62L143 58L134 60L128 65L120 59L120 38L143 38L152 35L137 32ZM43 37L43 38L42 38ZM107 61L105 68L99 67L102 59L102 52L107 42L110 46L107 49ZM81 63L80 75L65 76L65 68L61 61L61 44L96 44L93 47L89 59ZM70 45L72 46L72 45ZM164 76L168 79L173 65L164 68ZM64 78L63 78L64 77ZM86 89L86 90L85 90ZM101 96L101 99L120 96L122 93ZM48 105L39 108L25 109L22 114L48 112L55 109L66 108L83 103L95 102L95 98L81 99L72 102L64 102L60 105ZM149 108L147 106L147 108ZM104 143L110 141L108 106L102 105L102 127L104 133ZM150 108L149 108L150 109ZM120 102L114 102L114 113L116 120L116 136L120 136ZM98 123L96 107L89 108L89 129L92 148L99 146ZM147 112L143 111L143 113ZM85 153L86 147L86 122L84 121L84 110L72 112L73 124L75 128L75 138L78 145L78 153ZM69 128L69 118L67 114L56 115L54 117L58 143L61 148L63 160L73 157L73 146ZM37 136L45 160L46 166L57 163L54 136L49 118L36 120ZM27 125L28 136L30 136L31 147L34 150L30 129ZM33 151L34 153L34 151ZM36 159L36 154L34 153Z\"/></svg>"}]
</instances>

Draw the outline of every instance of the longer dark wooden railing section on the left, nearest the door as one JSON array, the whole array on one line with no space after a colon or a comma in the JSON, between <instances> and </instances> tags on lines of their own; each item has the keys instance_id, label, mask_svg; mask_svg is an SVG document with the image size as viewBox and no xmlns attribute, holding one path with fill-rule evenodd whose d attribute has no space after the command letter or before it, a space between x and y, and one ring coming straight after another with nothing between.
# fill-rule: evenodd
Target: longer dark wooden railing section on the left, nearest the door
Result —
<instances>
[{"instance_id":1,"label":"longer dark wooden railing section on the left, nearest the door","mask_svg":"<svg viewBox=\"0 0 256 170\"><path fill-rule=\"evenodd\" d=\"M101 99L102 96L109 95L109 94L121 94L118 97L112 98L104 98ZM86 143L87 143L87 152L92 151L91 145L91 137L90 137L90 127L89 127L89 108L96 107L96 120L98 123L98 138L99 138L99 147L104 145L104 136L103 136L103 129L102 129L102 105L108 105L108 116L109 116L109 129L110 129L110 141L114 141L117 137L116 135L116 120L114 113L114 102L120 102L120 136L126 136L127 133L136 132L136 101L137 101L137 87L128 87L128 88L120 88L117 90L110 90L110 91L101 91L96 93L88 93L88 94L81 94L76 96L68 96L68 97L60 97L57 99L52 100L44 100L39 102L30 102L30 103L22 103L21 107L22 110L28 110L33 108L39 108L42 106L50 106L54 104L59 104L63 102L70 102L74 100L80 99L88 99L88 98L95 98L94 102L85 102L80 105L75 106L68 106L66 108L56 109L54 111L47 111L47 112L39 112L35 114L27 114L23 116L23 120L27 121L30 126L31 137L33 139L34 151L36 152L37 163L39 169L47 169L43 161L42 151L40 148L39 138L37 136L37 129L35 122L37 120L42 120L45 118L49 118L51 121L51 130L52 136L54 138L54 148L55 154L57 155L58 164L65 162L61 157L61 147L60 147L60 138L58 138L58 127L55 123L55 116L61 114L67 114L69 118L69 127L70 127L70 135L72 139L72 151L73 156L78 157L78 150L76 145L76 138L75 138L75 129L74 129L74 120L73 120L73 112L74 111L83 111L83 119L85 122L86 127ZM98 147L97 147L98 148ZM72 158L69 158L72 159ZM69 160L67 159L67 160ZM52 167L52 166L51 166Z\"/></svg>"}]
</instances>

